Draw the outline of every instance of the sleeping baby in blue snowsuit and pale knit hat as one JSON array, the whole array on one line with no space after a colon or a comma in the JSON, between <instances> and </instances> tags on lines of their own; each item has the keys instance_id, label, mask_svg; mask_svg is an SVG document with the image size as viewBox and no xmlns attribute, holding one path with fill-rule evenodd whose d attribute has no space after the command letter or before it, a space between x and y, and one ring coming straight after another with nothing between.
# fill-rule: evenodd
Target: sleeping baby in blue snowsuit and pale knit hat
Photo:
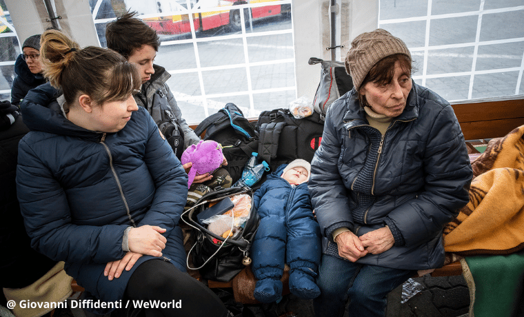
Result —
<instances>
[{"instance_id":1,"label":"sleeping baby in blue snowsuit and pale knit hat","mask_svg":"<svg viewBox=\"0 0 524 317\"><path fill-rule=\"evenodd\" d=\"M280 165L254 193L261 217L251 249L253 274L258 281L254 298L272 303L282 296L284 264L290 266L290 291L304 299L316 298L314 277L321 258L320 227L308 191L310 163L296 159Z\"/></svg>"}]
</instances>

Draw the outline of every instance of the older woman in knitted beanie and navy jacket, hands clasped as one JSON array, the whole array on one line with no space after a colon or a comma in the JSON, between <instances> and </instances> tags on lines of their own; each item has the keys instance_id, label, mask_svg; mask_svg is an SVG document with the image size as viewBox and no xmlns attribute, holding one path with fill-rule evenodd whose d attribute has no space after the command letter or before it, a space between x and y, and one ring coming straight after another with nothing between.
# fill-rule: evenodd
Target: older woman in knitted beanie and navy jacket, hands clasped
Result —
<instances>
[{"instance_id":1,"label":"older woman in knitted beanie and navy jacket, hands clasped","mask_svg":"<svg viewBox=\"0 0 524 317\"><path fill-rule=\"evenodd\" d=\"M354 89L334 102L309 189L323 234L316 316L383 316L386 295L444 263L442 229L469 200L472 169L447 101L412 82L405 43L356 37Z\"/></svg>"}]
</instances>

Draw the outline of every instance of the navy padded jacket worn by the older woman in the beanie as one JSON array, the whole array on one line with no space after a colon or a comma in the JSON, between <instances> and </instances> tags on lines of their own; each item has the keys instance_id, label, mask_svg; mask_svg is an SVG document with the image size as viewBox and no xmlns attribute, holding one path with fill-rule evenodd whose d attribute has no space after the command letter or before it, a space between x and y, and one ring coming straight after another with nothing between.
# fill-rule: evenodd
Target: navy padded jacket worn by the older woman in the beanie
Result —
<instances>
[{"instance_id":1,"label":"navy padded jacket worn by the older woman in the beanie","mask_svg":"<svg viewBox=\"0 0 524 317\"><path fill-rule=\"evenodd\" d=\"M398 269L443 265L443 225L468 201L472 169L453 108L413 83L407 105L382 138L347 92L326 115L309 188L324 252L338 256L332 232L357 235L388 225L395 245L357 263Z\"/></svg>"}]
</instances>

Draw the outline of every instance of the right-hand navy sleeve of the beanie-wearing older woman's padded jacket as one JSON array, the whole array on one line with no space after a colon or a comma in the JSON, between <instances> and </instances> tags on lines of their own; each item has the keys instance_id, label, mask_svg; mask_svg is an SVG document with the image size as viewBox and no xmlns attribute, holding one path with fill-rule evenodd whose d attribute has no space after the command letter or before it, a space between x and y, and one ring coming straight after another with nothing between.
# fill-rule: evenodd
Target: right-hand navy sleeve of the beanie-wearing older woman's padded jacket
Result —
<instances>
[{"instance_id":1,"label":"right-hand navy sleeve of the beanie-wearing older woman's padded jacket","mask_svg":"<svg viewBox=\"0 0 524 317\"><path fill-rule=\"evenodd\" d=\"M445 105L437 114L428 133L423 192L388 214L407 247L434 237L469 201L472 168L451 105Z\"/></svg>"}]
</instances>

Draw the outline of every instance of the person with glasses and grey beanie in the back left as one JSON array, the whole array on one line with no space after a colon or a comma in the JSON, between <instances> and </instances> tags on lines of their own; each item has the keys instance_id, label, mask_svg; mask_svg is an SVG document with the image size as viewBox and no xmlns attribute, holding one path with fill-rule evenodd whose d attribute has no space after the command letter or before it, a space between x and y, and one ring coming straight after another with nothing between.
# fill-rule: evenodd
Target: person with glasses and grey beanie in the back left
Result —
<instances>
[{"instance_id":1,"label":"person with glasses and grey beanie in the back left","mask_svg":"<svg viewBox=\"0 0 524 317\"><path fill-rule=\"evenodd\" d=\"M11 104L19 105L29 90L46 83L40 61L40 34L28 37L22 45L22 54L14 62L17 77L12 82Z\"/></svg>"}]
</instances>

